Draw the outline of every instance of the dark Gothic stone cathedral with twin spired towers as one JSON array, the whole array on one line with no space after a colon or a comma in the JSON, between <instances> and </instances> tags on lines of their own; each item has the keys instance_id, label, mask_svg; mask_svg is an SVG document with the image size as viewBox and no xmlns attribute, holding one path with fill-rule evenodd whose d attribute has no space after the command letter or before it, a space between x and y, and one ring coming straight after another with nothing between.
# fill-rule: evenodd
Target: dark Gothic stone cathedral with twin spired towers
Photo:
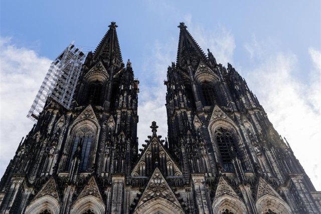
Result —
<instances>
[{"instance_id":1,"label":"dark Gothic stone cathedral with twin spired towers","mask_svg":"<svg viewBox=\"0 0 321 214\"><path fill-rule=\"evenodd\" d=\"M244 78L184 23L164 82L168 137L153 121L138 146L139 82L116 27L56 84L74 81L68 105L48 96L35 116L1 179L0 213L321 213L321 192Z\"/></svg>"}]
</instances>

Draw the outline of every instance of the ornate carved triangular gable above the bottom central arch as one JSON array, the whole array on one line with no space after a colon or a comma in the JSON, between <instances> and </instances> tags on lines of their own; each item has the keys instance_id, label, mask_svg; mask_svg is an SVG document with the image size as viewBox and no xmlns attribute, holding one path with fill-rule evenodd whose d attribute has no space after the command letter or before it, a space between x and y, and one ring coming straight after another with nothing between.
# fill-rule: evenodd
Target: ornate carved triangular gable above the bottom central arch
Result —
<instances>
[{"instance_id":1,"label":"ornate carved triangular gable above the bottom central arch","mask_svg":"<svg viewBox=\"0 0 321 214\"><path fill-rule=\"evenodd\" d=\"M152 173L136 207L155 197L163 197L182 208L173 190L157 167Z\"/></svg>"}]
</instances>

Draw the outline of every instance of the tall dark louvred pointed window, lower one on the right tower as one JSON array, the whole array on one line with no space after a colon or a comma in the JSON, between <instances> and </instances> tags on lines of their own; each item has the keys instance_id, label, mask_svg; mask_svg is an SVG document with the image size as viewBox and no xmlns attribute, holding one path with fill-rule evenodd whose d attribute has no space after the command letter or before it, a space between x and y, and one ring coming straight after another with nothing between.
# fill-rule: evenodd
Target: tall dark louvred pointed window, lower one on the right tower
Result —
<instances>
[{"instance_id":1,"label":"tall dark louvred pointed window, lower one on the right tower","mask_svg":"<svg viewBox=\"0 0 321 214\"><path fill-rule=\"evenodd\" d=\"M236 153L235 138L226 128L219 127L215 131L217 146L221 155L224 171L233 171L232 158Z\"/></svg>"}]
</instances>

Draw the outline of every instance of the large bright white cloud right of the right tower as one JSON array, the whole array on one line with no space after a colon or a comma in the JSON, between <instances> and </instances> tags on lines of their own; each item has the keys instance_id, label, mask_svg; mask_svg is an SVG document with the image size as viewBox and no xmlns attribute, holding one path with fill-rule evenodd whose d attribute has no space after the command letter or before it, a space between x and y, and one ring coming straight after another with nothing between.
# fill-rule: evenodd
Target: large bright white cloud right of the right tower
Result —
<instances>
[{"instance_id":1,"label":"large bright white cloud right of the right tower","mask_svg":"<svg viewBox=\"0 0 321 214\"><path fill-rule=\"evenodd\" d=\"M265 60L246 79L274 128L286 137L314 186L321 189L320 52L309 52L314 69L304 71L311 76L307 83L293 76L298 67L296 56L283 53L262 57Z\"/></svg>"}]
</instances>

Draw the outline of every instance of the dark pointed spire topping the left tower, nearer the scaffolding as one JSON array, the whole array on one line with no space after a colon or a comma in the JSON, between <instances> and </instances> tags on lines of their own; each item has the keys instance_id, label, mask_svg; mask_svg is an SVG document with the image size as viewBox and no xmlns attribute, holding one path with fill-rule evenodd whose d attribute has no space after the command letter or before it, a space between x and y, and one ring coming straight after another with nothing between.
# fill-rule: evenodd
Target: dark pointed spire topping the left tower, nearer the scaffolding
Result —
<instances>
[{"instance_id":1,"label":"dark pointed spire topping the left tower, nearer the scaffolding","mask_svg":"<svg viewBox=\"0 0 321 214\"><path fill-rule=\"evenodd\" d=\"M118 26L115 22L111 22L108 27L109 30L95 50L94 59L101 60L107 66L121 67L123 63L116 32Z\"/></svg>"}]
</instances>

